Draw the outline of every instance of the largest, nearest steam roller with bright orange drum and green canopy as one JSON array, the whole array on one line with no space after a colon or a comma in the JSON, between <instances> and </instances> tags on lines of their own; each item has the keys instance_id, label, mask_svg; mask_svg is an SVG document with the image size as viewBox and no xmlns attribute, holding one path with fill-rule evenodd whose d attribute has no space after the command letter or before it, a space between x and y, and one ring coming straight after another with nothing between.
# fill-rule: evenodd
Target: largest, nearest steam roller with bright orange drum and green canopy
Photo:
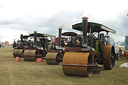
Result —
<instances>
[{"instance_id":1,"label":"largest, nearest steam roller with bright orange drum and green canopy","mask_svg":"<svg viewBox=\"0 0 128 85\"><path fill-rule=\"evenodd\" d=\"M98 64L105 70L112 70L115 66L115 49L110 44L108 33L115 34L115 31L102 24L88 22L87 17L83 17L82 23L72 28L83 34L75 37L73 47L64 49L63 73L67 76L91 77L93 73L98 74L102 70Z\"/></svg>"}]
</instances>

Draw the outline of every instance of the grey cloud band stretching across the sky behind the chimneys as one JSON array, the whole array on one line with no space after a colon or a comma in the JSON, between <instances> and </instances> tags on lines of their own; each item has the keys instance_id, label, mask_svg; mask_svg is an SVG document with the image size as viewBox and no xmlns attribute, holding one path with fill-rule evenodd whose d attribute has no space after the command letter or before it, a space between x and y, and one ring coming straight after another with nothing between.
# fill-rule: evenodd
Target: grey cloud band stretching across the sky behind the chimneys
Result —
<instances>
[{"instance_id":1,"label":"grey cloud band stretching across the sky behind the chimneys","mask_svg":"<svg viewBox=\"0 0 128 85\"><path fill-rule=\"evenodd\" d=\"M117 19L104 20L93 20L94 22L99 22L104 24L114 30L116 30L116 35L126 36L128 35L128 16L127 11L118 14ZM84 11L69 11L62 10L56 15L49 18L44 16L34 16L27 15L23 17L16 17L12 20L0 20L0 25L8 26L11 29L18 29L22 31L27 31L28 33L34 30L58 35L58 28L63 27L64 31L74 31L71 29L72 25L81 22L81 17L84 15ZM92 20L91 18L89 21Z\"/></svg>"}]
</instances>

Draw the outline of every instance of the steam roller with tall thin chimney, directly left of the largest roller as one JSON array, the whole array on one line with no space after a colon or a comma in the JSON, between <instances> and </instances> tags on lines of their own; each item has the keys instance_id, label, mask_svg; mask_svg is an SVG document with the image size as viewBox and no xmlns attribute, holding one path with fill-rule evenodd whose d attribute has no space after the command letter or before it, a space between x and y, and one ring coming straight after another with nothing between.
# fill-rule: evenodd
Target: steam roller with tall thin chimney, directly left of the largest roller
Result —
<instances>
[{"instance_id":1,"label":"steam roller with tall thin chimney, directly left of the largest roller","mask_svg":"<svg viewBox=\"0 0 128 85\"><path fill-rule=\"evenodd\" d=\"M57 42L58 46L56 46L55 49L49 50L49 52L46 54L46 63L51 65L58 65L62 63L64 52L63 50L66 47L72 47L72 39L67 42L68 38L63 38L62 36L66 37L75 37L77 36L77 33L75 32L64 32L62 33L62 28L59 28L59 40ZM65 42L65 43L64 43Z\"/></svg>"}]
</instances>

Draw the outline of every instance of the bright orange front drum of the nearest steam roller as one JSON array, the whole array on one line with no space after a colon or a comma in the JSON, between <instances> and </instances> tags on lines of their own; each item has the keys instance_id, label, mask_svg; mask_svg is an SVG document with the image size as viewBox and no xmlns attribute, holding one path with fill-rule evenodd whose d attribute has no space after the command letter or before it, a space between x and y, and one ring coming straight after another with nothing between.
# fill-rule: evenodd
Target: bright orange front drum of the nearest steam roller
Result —
<instances>
[{"instance_id":1,"label":"bright orange front drum of the nearest steam roller","mask_svg":"<svg viewBox=\"0 0 128 85\"><path fill-rule=\"evenodd\" d=\"M93 65L90 64L89 52L66 52L63 57L63 72L69 76L86 76L93 74Z\"/></svg>"}]
</instances>

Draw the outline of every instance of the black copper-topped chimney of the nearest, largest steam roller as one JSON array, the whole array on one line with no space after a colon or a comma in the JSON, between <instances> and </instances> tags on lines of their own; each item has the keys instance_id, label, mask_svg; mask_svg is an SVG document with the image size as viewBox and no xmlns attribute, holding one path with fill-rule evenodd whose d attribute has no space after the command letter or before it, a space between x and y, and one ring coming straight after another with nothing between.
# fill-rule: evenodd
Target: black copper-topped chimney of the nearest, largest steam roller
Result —
<instances>
[{"instance_id":1,"label":"black copper-topped chimney of the nearest, largest steam roller","mask_svg":"<svg viewBox=\"0 0 128 85\"><path fill-rule=\"evenodd\" d=\"M82 17L82 31L83 31L83 38L84 43L87 43L87 31L88 31L88 18Z\"/></svg>"}]
</instances>

